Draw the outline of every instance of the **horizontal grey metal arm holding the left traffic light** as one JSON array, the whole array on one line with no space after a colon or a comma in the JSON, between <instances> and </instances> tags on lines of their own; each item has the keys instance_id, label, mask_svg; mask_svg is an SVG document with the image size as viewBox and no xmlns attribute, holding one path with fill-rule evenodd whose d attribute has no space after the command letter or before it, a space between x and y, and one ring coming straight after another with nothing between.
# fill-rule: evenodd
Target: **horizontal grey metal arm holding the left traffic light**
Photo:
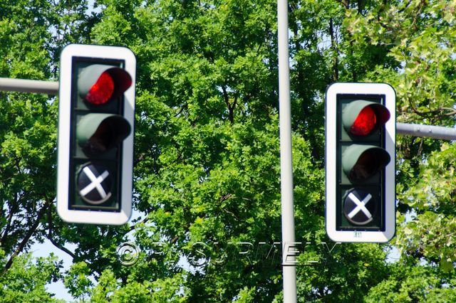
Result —
<instances>
[{"instance_id":1,"label":"horizontal grey metal arm holding the left traffic light","mask_svg":"<svg viewBox=\"0 0 456 303\"><path fill-rule=\"evenodd\" d=\"M9 92L37 92L40 94L57 95L58 82L0 78L0 90Z\"/></svg>"}]
</instances>

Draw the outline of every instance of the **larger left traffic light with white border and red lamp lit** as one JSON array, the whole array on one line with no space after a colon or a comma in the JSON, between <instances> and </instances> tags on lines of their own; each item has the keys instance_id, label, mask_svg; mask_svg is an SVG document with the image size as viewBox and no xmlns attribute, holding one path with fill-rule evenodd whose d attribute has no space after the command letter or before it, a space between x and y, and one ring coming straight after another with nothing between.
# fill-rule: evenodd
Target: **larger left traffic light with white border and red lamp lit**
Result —
<instances>
[{"instance_id":1,"label":"larger left traffic light with white border and red lamp lit","mask_svg":"<svg viewBox=\"0 0 456 303\"><path fill-rule=\"evenodd\" d=\"M62 50L57 211L67 222L120 225L130 218L135 70L128 48Z\"/></svg>"}]
</instances>

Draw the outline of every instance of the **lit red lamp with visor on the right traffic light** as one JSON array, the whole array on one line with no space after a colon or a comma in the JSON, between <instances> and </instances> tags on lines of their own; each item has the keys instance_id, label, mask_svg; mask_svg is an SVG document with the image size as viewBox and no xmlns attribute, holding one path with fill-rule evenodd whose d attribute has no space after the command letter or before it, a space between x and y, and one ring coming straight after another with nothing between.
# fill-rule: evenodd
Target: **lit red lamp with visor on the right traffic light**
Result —
<instances>
[{"instance_id":1,"label":"lit red lamp with visor on the right traffic light","mask_svg":"<svg viewBox=\"0 0 456 303\"><path fill-rule=\"evenodd\" d=\"M390 112L379 103L356 100L343 109L342 119L343 127L348 134L366 137L390 119Z\"/></svg>"}]
</instances>

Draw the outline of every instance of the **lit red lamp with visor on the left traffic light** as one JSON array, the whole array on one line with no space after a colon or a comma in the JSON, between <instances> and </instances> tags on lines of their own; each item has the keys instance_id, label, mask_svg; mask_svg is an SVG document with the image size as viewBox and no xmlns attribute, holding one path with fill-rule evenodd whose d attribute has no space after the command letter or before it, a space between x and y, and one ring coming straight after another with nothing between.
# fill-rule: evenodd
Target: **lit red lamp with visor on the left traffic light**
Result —
<instances>
[{"instance_id":1,"label":"lit red lamp with visor on the left traffic light","mask_svg":"<svg viewBox=\"0 0 456 303\"><path fill-rule=\"evenodd\" d=\"M93 64L81 70L78 93L93 105L103 105L120 96L132 85L130 74L112 65Z\"/></svg>"}]
</instances>

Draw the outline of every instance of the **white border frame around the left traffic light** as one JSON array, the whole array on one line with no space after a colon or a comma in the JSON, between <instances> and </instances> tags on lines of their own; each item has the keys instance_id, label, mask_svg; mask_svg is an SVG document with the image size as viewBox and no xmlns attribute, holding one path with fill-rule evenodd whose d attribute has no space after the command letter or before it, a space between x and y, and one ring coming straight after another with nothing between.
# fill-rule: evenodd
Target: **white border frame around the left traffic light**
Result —
<instances>
[{"instance_id":1,"label":"white border frame around the left traffic light","mask_svg":"<svg viewBox=\"0 0 456 303\"><path fill-rule=\"evenodd\" d=\"M124 117L130 122L132 132L123 141L122 168L122 209L111 211L76 211L68 209L68 172L70 169L70 119L71 119L71 68L72 58L88 57L100 59L125 60L125 70L130 73L132 85L125 91ZM131 216L133 188L133 133L135 122L135 78L136 57L128 48L118 46L93 46L70 44L63 48L60 65L60 84L58 94L58 166L57 166L57 212L69 223L92 223L122 225Z\"/></svg>"}]
</instances>

